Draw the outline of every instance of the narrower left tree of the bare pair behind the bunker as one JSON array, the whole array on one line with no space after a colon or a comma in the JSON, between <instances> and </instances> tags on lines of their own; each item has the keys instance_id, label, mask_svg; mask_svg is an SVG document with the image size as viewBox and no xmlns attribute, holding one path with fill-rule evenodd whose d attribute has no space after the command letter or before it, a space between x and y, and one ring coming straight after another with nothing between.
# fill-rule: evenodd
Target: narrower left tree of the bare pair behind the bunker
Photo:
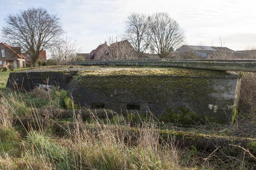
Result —
<instances>
[{"instance_id":1,"label":"narrower left tree of the bare pair behind the bunker","mask_svg":"<svg viewBox=\"0 0 256 170\"><path fill-rule=\"evenodd\" d=\"M133 13L125 21L126 30L124 39L127 39L141 57L149 47L150 36L148 34L147 16Z\"/></svg>"}]
</instances>

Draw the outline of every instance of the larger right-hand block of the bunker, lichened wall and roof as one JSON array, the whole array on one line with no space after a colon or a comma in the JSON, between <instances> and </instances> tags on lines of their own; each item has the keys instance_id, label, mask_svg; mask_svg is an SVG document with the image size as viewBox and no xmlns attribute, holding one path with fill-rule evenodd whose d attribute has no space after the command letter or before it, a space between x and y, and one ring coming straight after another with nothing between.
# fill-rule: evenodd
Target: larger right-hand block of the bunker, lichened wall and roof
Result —
<instances>
[{"instance_id":1,"label":"larger right-hand block of the bunker, lichened wall and roof","mask_svg":"<svg viewBox=\"0 0 256 170\"><path fill-rule=\"evenodd\" d=\"M127 112L127 104L140 105L138 113L151 111L156 116L180 113L187 108L190 114L182 123L203 120L227 123L231 120L237 80L239 75L224 71L210 71L162 67L107 67L80 70L73 77L69 91L77 96L75 101L90 106L91 101L105 103L117 112ZM229 81L225 84L225 82ZM217 87L222 84L222 89ZM78 94L83 91L88 96ZM226 96L220 96L225 91ZM212 108L208 108L212 105ZM229 107L227 107L229 106ZM129 112L129 110L128 110ZM173 112L173 113L174 113ZM225 114L226 112L227 114ZM172 113L172 112L171 112ZM182 112L183 113L183 112ZM174 123L175 116L170 120ZM227 116L228 115L228 116ZM169 115L170 116L170 115Z\"/></svg>"}]
</instances>

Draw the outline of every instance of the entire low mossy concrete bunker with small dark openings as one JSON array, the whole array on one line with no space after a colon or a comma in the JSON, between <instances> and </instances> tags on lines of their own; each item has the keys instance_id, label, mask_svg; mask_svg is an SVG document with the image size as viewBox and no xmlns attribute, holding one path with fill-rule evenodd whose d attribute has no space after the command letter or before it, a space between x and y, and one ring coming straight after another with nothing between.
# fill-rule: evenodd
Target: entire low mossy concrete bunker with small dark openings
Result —
<instances>
[{"instance_id":1,"label":"entire low mossy concrete bunker with small dark openings","mask_svg":"<svg viewBox=\"0 0 256 170\"><path fill-rule=\"evenodd\" d=\"M64 71L66 70L66 71ZM40 75L47 75L38 77ZM31 90L31 83L61 85L75 103L89 108L112 109L117 113L151 112L160 121L230 123L237 114L240 75L235 72L185 68L80 66L47 68L10 74ZM58 83L56 83L58 82ZM34 87L33 86L33 87Z\"/></svg>"}]
</instances>

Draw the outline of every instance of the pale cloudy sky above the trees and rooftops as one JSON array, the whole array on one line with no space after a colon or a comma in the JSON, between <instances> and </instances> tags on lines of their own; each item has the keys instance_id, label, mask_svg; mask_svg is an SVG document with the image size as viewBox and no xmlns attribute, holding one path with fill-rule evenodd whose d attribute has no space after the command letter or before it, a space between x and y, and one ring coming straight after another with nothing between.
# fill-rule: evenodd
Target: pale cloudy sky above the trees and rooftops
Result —
<instances>
[{"instance_id":1,"label":"pale cloudy sky above the trees and rooftops","mask_svg":"<svg viewBox=\"0 0 256 170\"><path fill-rule=\"evenodd\" d=\"M89 53L108 35L122 34L133 12L167 12L184 29L186 44L243 50L256 45L255 0L0 0L0 25L9 13L44 7L60 17L68 37Z\"/></svg>"}]
</instances>

